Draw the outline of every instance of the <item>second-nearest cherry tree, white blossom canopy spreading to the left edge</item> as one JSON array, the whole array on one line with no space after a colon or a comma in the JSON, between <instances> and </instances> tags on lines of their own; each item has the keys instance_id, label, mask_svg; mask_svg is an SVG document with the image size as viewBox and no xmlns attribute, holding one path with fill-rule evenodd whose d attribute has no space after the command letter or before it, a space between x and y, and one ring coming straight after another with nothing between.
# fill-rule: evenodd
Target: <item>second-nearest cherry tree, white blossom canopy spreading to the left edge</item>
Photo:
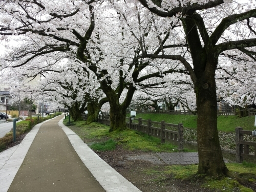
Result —
<instances>
[{"instance_id":1,"label":"second-nearest cherry tree, white blossom canopy spreading to the left edge","mask_svg":"<svg viewBox=\"0 0 256 192\"><path fill-rule=\"evenodd\" d=\"M147 45L143 49L156 54L166 41L159 44L159 39L153 38L157 25L153 28L152 23L157 21L149 11L140 13L141 8L134 9L132 4L132 11L127 12L121 9L122 4L59 3L55 7L47 1L2 2L0 34L3 38L17 35L20 42L4 56L5 66L34 68L37 74L44 74L58 58L70 58L74 65L91 70L97 77L111 106L110 131L125 129L126 109L135 90L164 83L161 77L184 68L168 68L154 59L140 58L142 40ZM169 33L164 36L167 39ZM53 59L44 62L48 58ZM153 84L141 84L154 77L159 79Z\"/></svg>"}]
</instances>

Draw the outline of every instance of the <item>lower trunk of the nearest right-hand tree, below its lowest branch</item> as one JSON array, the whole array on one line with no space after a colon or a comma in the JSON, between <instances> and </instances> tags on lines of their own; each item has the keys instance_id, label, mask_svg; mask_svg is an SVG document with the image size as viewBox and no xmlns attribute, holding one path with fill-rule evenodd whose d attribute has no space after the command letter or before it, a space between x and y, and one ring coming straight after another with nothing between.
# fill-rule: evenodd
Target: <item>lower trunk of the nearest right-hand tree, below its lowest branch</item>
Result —
<instances>
[{"instance_id":1,"label":"lower trunk of the nearest right-hand tree, below its lowest branch","mask_svg":"<svg viewBox=\"0 0 256 192\"><path fill-rule=\"evenodd\" d=\"M204 75L203 75L204 76ZM217 130L217 96L214 75L195 84L197 96L198 174L219 177L228 169L224 163Z\"/></svg>"}]
</instances>

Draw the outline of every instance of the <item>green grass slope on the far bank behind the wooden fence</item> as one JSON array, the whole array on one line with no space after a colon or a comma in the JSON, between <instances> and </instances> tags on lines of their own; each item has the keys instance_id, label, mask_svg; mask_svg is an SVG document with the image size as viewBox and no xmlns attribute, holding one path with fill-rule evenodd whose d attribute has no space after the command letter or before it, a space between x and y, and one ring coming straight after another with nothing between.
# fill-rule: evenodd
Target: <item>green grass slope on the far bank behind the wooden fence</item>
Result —
<instances>
[{"instance_id":1,"label":"green grass slope on the far bank behind the wooden fence","mask_svg":"<svg viewBox=\"0 0 256 192\"><path fill-rule=\"evenodd\" d=\"M129 117L130 114L127 114ZM167 123L183 123L184 127L197 128L197 115L169 115L169 114L136 114L136 118L151 119L152 121L162 121ZM255 117L237 117L237 116L218 116L218 130L223 132L232 132L237 126L243 127L243 130L253 131Z\"/></svg>"}]
</instances>

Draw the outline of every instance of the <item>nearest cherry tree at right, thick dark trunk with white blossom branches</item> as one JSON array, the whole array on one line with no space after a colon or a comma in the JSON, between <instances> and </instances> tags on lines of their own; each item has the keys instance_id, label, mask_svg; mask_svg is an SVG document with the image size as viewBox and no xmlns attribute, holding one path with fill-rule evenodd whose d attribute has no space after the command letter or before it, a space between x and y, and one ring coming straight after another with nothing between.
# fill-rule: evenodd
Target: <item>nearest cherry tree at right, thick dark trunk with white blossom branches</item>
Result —
<instances>
[{"instance_id":1,"label":"nearest cherry tree at right, thick dark trunk with white blossom branches","mask_svg":"<svg viewBox=\"0 0 256 192\"><path fill-rule=\"evenodd\" d=\"M168 20L170 25L179 25L186 42L184 47L190 60L176 54L144 52L144 57L179 60L188 70L194 83L198 110L198 174L219 177L228 175L217 131L216 70L225 58L232 59L222 68L255 64L255 19L256 9L252 1L147 1L138 0L144 7ZM185 38L184 38L185 37ZM175 42L173 42L175 44ZM247 55L250 62L238 56ZM229 66L230 64L230 66Z\"/></svg>"}]
</instances>

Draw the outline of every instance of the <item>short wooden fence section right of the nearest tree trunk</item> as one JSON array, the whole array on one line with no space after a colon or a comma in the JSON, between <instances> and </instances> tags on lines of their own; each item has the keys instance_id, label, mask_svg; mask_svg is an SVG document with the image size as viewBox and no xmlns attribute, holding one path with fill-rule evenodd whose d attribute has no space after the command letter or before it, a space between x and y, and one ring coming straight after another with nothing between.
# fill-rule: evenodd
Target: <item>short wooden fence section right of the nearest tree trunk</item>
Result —
<instances>
[{"instance_id":1,"label":"short wooden fence section right of the nearest tree trunk","mask_svg":"<svg viewBox=\"0 0 256 192\"><path fill-rule=\"evenodd\" d=\"M245 131L243 127L236 127L236 161L243 162L243 157L254 157L256 159L256 142L245 141L243 135L253 135L256 137L256 130ZM254 154L250 154L250 146L254 147Z\"/></svg>"}]
</instances>

